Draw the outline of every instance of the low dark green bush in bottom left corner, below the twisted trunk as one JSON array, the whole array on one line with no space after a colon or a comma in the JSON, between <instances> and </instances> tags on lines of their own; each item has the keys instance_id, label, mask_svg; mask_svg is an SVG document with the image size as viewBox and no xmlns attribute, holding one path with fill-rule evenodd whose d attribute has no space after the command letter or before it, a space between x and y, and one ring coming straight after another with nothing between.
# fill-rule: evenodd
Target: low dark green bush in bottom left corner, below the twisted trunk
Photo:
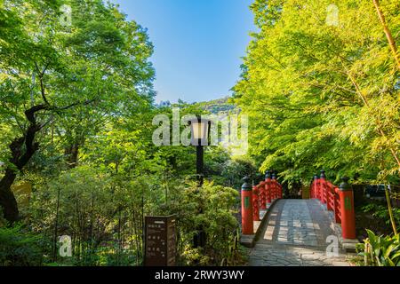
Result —
<instances>
[{"instance_id":1,"label":"low dark green bush in bottom left corner, below the twisted trunk","mask_svg":"<svg viewBox=\"0 0 400 284\"><path fill-rule=\"evenodd\" d=\"M35 266L42 263L41 237L22 225L0 228L0 265Z\"/></svg>"}]
</instances>

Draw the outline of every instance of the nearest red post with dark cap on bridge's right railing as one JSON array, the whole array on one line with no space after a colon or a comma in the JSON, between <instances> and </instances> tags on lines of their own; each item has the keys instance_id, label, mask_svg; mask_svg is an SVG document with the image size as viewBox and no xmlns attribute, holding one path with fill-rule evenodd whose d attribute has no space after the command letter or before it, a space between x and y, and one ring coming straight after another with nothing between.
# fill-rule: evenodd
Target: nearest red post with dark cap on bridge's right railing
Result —
<instances>
[{"instance_id":1,"label":"nearest red post with dark cap on bridge's right railing","mask_svg":"<svg viewBox=\"0 0 400 284\"><path fill-rule=\"evenodd\" d=\"M354 193L348 184L349 177L342 177L340 184L340 215L343 239L356 239L356 214L354 209Z\"/></svg>"}]
</instances>

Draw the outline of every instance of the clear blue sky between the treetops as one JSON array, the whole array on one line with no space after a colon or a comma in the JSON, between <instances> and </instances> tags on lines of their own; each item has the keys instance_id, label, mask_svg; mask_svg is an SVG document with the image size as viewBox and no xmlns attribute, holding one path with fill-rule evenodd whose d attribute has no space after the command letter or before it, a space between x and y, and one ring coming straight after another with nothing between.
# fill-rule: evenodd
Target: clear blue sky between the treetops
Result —
<instances>
[{"instance_id":1,"label":"clear blue sky between the treetops","mask_svg":"<svg viewBox=\"0 0 400 284\"><path fill-rule=\"evenodd\" d=\"M155 45L156 102L220 99L240 75L252 0L114 0Z\"/></svg>"}]
</instances>

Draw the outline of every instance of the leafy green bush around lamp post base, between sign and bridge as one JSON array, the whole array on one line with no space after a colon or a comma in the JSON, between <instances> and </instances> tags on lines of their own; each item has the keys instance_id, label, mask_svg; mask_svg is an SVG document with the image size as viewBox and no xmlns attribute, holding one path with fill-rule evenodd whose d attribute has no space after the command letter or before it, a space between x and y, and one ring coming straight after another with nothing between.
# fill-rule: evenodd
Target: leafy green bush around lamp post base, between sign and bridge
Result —
<instances>
[{"instance_id":1,"label":"leafy green bush around lamp post base, between sign and bridge","mask_svg":"<svg viewBox=\"0 0 400 284\"><path fill-rule=\"evenodd\" d=\"M239 225L235 217L237 191L209 182L205 182L201 189L196 185L183 187L174 191L175 196L167 211L178 217L180 265L241 264ZM205 248L192 246L199 227L203 227L206 233Z\"/></svg>"}]
</instances>

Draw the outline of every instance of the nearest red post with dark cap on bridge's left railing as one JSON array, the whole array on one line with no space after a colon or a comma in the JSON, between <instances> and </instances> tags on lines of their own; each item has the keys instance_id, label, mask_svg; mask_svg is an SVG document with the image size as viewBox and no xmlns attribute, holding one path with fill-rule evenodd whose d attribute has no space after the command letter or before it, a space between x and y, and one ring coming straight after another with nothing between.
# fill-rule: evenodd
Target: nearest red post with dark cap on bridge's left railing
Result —
<instances>
[{"instance_id":1,"label":"nearest red post with dark cap on bridge's left railing","mask_svg":"<svg viewBox=\"0 0 400 284\"><path fill-rule=\"evenodd\" d=\"M249 185L249 177L244 177L242 185L242 233L253 234L252 222L252 185Z\"/></svg>"}]
</instances>

